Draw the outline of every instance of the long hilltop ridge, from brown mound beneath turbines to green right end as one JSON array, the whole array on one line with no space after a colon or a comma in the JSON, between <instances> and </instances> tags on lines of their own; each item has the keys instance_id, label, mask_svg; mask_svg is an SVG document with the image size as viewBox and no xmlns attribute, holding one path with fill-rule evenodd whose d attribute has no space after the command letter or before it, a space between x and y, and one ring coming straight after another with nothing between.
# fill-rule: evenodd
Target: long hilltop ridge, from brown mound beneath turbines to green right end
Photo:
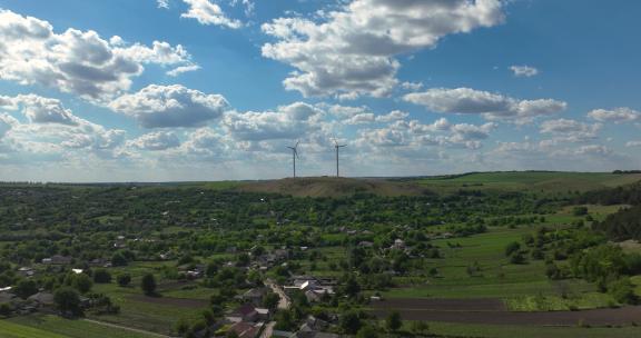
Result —
<instances>
[{"instance_id":1,"label":"long hilltop ridge, from brown mound beneath turbines to green right end","mask_svg":"<svg viewBox=\"0 0 641 338\"><path fill-rule=\"evenodd\" d=\"M355 193L417 196L458 190L499 190L564 193L591 191L641 181L641 173L504 171L471 172L424 178L334 178L308 177L238 182L231 189L295 197L345 197Z\"/></svg>"}]
</instances>

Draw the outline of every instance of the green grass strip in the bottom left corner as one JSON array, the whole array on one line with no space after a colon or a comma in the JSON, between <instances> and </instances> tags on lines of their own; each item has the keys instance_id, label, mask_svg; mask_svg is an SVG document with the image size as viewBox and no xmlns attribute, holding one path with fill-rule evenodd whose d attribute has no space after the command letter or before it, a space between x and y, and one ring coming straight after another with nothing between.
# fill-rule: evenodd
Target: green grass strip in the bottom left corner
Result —
<instances>
[{"instance_id":1,"label":"green grass strip in the bottom left corner","mask_svg":"<svg viewBox=\"0 0 641 338\"><path fill-rule=\"evenodd\" d=\"M9 334L3 330L9 328ZM22 336L11 336L11 329L17 330ZM127 329L112 328L86 320L70 320L51 315L31 315L17 317L11 321L0 322L0 337L7 338L151 338L152 335L135 332Z\"/></svg>"}]
</instances>

